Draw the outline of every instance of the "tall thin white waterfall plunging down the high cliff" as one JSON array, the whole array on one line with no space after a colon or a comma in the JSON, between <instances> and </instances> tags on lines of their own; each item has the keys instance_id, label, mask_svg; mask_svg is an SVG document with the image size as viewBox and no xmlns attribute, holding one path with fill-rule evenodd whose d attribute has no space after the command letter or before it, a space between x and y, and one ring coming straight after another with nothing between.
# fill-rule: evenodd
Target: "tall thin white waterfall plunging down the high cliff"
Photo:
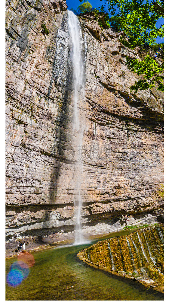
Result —
<instances>
[{"instance_id":1,"label":"tall thin white waterfall plunging down the high cliff","mask_svg":"<svg viewBox=\"0 0 169 306\"><path fill-rule=\"evenodd\" d=\"M78 148L82 145L83 140L83 132L84 132L84 124L82 123L82 119L79 116L79 96L81 92L81 88L83 85L83 62L81 57L82 51L82 34L81 34L81 26L79 20L76 15L72 11L68 11L68 28L69 28L69 36L70 36L70 50L71 50L71 62L72 62L72 70L73 70L73 102L74 102L74 119L73 119L73 135L74 135L74 145L75 145L75 174L74 174L74 184L75 184L75 244L84 242L83 234L81 230L81 207L82 207L82 199L81 199L81 184L82 184L82 174L83 174L83 161L79 160L77 156ZM77 204L77 209L76 209Z\"/></svg>"}]
</instances>

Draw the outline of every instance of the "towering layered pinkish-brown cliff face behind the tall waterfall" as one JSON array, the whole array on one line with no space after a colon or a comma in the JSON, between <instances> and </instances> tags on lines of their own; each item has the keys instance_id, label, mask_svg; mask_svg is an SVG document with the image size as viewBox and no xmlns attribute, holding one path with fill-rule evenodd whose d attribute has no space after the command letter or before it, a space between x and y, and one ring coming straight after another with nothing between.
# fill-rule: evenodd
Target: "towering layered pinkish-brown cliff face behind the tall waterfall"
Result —
<instances>
[{"instance_id":1,"label":"towering layered pinkish-brown cliff face behind the tall waterfall","mask_svg":"<svg viewBox=\"0 0 169 306\"><path fill-rule=\"evenodd\" d=\"M79 17L84 133L77 150L66 2L6 5L7 239L74 229L78 158L82 224L162 207L163 97L156 89L150 98L130 94L137 76L125 62L136 51L122 47L121 33L101 29L92 13Z\"/></svg>"}]
</instances>

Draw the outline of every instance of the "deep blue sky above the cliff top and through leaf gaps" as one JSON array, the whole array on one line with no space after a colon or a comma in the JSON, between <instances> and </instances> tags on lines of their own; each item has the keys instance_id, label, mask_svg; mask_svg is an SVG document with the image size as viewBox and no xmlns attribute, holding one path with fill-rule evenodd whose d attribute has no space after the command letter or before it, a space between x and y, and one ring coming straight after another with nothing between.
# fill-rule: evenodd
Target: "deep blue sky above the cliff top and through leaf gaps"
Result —
<instances>
[{"instance_id":1,"label":"deep blue sky above the cliff top and through leaf gaps","mask_svg":"<svg viewBox=\"0 0 169 306\"><path fill-rule=\"evenodd\" d=\"M83 2L85 2L85 1L82 1L82 2L80 2L79 0L66 0L66 3L67 3L67 7L68 7L68 9L70 9L71 7L73 7L73 9L77 9L77 7L80 5L80 4L82 4ZM88 0L88 2L89 3L91 3L92 4L92 6L93 7L99 7L99 6L102 6L103 4L104 4L104 0L103 1L101 1L101 0ZM107 10L108 11L108 10ZM157 26L159 26L160 27L160 25L161 24L163 24L164 22L162 22L162 20L161 19L159 19L158 21L157 21ZM161 38L157 38L156 39L156 43L161 43L161 42L164 42L164 39L161 39Z\"/></svg>"}]
</instances>

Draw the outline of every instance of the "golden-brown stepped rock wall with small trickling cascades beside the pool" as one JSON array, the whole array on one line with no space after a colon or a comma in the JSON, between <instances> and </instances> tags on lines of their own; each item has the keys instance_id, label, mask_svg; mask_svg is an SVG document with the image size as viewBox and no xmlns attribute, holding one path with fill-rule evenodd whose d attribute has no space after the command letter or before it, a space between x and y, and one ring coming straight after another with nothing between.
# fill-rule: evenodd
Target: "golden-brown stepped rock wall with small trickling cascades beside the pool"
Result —
<instances>
[{"instance_id":1,"label":"golden-brown stepped rock wall with small trickling cascades beside the pool","mask_svg":"<svg viewBox=\"0 0 169 306\"><path fill-rule=\"evenodd\" d=\"M164 225L99 241L81 251L78 257L144 284L151 283L161 292L164 289Z\"/></svg>"}]
</instances>

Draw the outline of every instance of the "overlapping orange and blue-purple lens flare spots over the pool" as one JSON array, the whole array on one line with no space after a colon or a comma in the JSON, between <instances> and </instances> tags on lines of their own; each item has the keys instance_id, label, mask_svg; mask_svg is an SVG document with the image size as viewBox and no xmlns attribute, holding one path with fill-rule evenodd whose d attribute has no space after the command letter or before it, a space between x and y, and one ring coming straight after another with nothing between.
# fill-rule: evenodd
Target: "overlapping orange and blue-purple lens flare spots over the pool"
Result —
<instances>
[{"instance_id":1,"label":"overlapping orange and blue-purple lens flare spots over the pool","mask_svg":"<svg viewBox=\"0 0 169 306\"><path fill-rule=\"evenodd\" d=\"M33 255L29 253L21 253L18 255L18 261L12 263L10 271L6 277L9 286L16 287L26 279L29 275L29 268L35 263Z\"/></svg>"}]
</instances>

